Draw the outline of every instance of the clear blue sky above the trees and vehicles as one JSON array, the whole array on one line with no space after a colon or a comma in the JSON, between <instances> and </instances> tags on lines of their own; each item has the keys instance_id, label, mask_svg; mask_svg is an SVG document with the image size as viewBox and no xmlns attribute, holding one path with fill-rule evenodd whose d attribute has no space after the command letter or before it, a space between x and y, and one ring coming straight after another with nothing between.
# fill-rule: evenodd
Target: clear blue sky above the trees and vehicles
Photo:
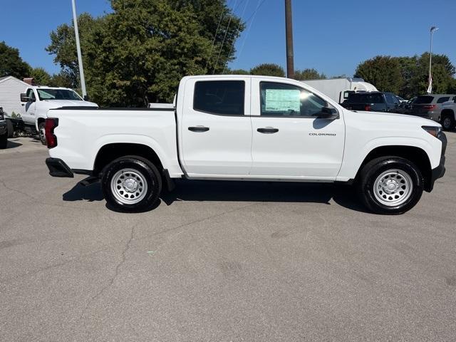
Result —
<instances>
[{"instance_id":1,"label":"clear blue sky above the trees and vehicles","mask_svg":"<svg viewBox=\"0 0 456 342\"><path fill-rule=\"evenodd\" d=\"M261 0L228 0L244 19ZM107 0L76 0L77 11L100 16L110 11ZM352 76L361 61L375 55L413 56L429 49L445 53L456 65L456 0L293 0L295 68L316 68L327 76ZM72 19L71 0L0 0L0 41L19 48L33 67L58 72L44 50L49 33ZM232 68L259 63L285 66L284 0L265 0L237 41ZM246 38L247 36L247 38ZM241 50L241 46L244 48Z\"/></svg>"}]
</instances>

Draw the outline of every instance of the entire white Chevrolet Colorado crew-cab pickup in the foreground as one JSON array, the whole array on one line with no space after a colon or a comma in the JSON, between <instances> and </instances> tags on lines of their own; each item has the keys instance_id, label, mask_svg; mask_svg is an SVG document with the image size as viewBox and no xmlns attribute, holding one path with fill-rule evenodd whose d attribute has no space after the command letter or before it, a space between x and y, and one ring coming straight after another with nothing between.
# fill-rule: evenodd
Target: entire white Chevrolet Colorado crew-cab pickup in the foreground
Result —
<instances>
[{"instance_id":1,"label":"entire white Chevrolet Colorado crew-cab pickup in the foreground","mask_svg":"<svg viewBox=\"0 0 456 342\"><path fill-rule=\"evenodd\" d=\"M266 76L187 76L175 108L49 110L46 138L51 176L100 179L109 206L129 212L187 178L353 183L371 211L400 214L445 172L438 123L346 110Z\"/></svg>"}]
</instances>

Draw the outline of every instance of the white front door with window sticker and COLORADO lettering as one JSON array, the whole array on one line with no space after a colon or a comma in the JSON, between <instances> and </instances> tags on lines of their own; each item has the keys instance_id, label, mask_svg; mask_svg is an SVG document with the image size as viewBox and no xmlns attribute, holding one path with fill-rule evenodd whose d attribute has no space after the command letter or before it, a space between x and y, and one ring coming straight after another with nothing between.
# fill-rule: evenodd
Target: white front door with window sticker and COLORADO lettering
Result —
<instances>
[{"instance_id":1,"label":"white front door with window sticker and COLORADO lettering","mask_svg":"<svg viewBox=\"0 0 456 342\"><path fill-rule=\"evenodd\" d=\"M252 176L335 179L341 168L345 125L316 118L335 105L287 83L252 80ZM289 176L289 177L287 177Z\"/></svg>"}]
</instances>

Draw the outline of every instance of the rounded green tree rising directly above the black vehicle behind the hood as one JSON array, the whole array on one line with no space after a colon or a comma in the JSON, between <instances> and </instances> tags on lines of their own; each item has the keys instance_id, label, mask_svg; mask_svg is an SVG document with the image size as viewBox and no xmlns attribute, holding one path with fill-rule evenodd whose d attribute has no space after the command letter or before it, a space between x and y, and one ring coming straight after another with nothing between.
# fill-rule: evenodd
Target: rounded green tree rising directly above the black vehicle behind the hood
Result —
<instances>
[{"instance_id":1,"label":"rounded green tree rising directly above the black vehicle behind the hood","mask_svg":"<svg viewBox=\"0 0 456 342\"><path fill-rule=\"evenodd\" d=\"M376 56L358 65L355 77L372 83L380 91L398 93L403 86L403 77L398 58Z\"/></svg>"}]
</instances>

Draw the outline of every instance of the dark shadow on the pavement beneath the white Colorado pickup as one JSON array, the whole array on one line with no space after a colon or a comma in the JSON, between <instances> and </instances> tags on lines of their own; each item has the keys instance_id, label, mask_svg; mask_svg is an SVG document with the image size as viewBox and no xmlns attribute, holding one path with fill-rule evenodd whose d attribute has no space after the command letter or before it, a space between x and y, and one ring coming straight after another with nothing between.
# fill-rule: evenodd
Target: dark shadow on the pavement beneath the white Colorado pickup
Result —
<instances>
[{"instance_id":1,"label":"dark shadow on the pavement beneath the white Colorado pickup","mask_svg":"<svg viewBox=\"0 0 456 342\"><path fill-rule=\"evenodd\" d=\"M177 180L172 192L162 191L162 201L171 205L175 201L204 202L310 202L330 205L330 200L358 212L367 212L356 197L353 187L329 183L293 182L237 182L237 181L199 181ZM63 194L64 201L88 202L103 200L100 183L83 187L77 184ZM113 209L107 206L108 209Z\"/></svg>"}]
</instances>

